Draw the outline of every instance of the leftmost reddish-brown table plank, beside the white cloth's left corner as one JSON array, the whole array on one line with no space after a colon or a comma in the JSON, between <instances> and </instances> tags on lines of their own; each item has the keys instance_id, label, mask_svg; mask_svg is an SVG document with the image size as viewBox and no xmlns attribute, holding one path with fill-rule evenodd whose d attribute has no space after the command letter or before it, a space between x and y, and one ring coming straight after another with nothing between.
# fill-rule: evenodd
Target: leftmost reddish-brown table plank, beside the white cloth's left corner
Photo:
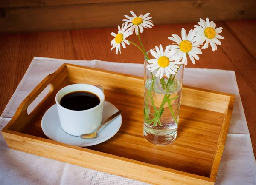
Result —
<instances>
[{"instance_id":1,"label":"leftmost reddish-brown table plank, beside the white cloth's left corner","mask_svg":"<svg viewBox=\"0 0 256 185\"><path fill-rule=\"evenodd\" d=\"M0 34L1 113L35 56L76 59L70 32Z\"/></svg>"}]
</instances>

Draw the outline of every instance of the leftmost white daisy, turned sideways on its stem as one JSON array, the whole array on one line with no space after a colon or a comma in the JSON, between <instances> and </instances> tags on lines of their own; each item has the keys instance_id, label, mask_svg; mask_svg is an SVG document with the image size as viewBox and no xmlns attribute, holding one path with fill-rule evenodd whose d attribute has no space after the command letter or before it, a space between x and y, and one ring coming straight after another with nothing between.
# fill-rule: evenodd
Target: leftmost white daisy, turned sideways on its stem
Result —
<instances>
[{"instance_id":1,"label":"leftmost white daisy, turned sideways on its stem","mask_svg":"<svg viewBox=\"0 0 256 185\"><path fill-rule=\"evenodd\" d=\"M113 32L111 33L111 35L115 38L113 40L111 40L112 48L110 51L112 51L113 48L116 48L116 54L120 54L121 53L121 44L122 44L123 48L126 47L125 43L128 45L130 44L129 41L126 40L126 38L128 36L132 35L132 31L131 31L131 29L126 30L127 28L128 28L127 23L123 23L122 28L120 28L120 26L118 26L117 34L115 34Z\"/></svg>"}]
</instances>

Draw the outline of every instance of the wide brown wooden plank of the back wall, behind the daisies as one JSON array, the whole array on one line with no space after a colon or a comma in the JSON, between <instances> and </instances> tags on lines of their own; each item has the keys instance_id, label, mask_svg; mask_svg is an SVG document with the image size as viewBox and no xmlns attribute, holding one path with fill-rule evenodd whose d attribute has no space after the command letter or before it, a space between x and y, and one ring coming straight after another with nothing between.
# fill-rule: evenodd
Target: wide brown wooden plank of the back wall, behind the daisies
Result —
<instances>
[{"instance_id":1,"label":"wide brown wooden plank of the back wall, behind the daisies","mask_svg":"<svg viewBox=\"0 0 256 185\"><path fill-rule=\"evenodd\" d=\"M79 6L4 8L0 32L28 32L116 27L130 10L151 13L154 24L256 18L254 0L165 0L124 3L98 3ZM141 8L143 7L143 9ZM172 13L170 13L172 12Z\"/></svg>"}]
</instances>

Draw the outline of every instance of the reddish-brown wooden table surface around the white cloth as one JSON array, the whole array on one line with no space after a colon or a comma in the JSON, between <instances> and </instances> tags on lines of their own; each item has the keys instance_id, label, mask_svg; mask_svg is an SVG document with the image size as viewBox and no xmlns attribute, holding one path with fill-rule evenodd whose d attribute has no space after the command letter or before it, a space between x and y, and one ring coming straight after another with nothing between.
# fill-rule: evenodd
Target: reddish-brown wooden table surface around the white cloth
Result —
<instances>
[{"instance_id":1,"label":"reddish-brown wooden table surface around the white cloth","mask_svg":"<svg viewBox=\"0 0 256 185\"><path fill-rule=\"evenodd\" d=\"M172 43L167 37L187 32L193 23L154 26L141 35L147 49L155 45ZM225 40L212 53L209 46L203 50L200 60L190 68L214 68L233 70L239 86L241 100L256 156L256 20L227 21L217 23L223 27ZM33 57L52 57L72 60L105 60L122 63L143 63L143 54L134 46L121 49L116 55L111 49L111 32L117 28L93 30L57 31L23 34L0 34L0 113L3 112L17 85L20 83ZM139 42L136 35L129 40Z\"/></svg>"}]
</instances>

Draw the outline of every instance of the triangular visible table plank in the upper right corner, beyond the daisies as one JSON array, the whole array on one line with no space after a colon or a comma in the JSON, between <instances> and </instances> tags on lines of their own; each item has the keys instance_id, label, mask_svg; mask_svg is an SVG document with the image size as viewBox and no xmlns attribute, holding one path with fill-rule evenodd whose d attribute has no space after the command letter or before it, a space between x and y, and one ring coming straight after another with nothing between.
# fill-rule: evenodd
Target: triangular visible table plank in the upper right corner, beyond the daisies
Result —
<instances>
[{"instance_id":1,"label":"triangular visible table plank in the upper right corner, beyond the daisies","mask_svg":"<svg viewBox=\"0 0 256 185\"><path fill-rule=\"evenodd\" d=\"M227 21L226 26L242 47L256 59L256 20Z\"/></svg>"}]
</instances>

